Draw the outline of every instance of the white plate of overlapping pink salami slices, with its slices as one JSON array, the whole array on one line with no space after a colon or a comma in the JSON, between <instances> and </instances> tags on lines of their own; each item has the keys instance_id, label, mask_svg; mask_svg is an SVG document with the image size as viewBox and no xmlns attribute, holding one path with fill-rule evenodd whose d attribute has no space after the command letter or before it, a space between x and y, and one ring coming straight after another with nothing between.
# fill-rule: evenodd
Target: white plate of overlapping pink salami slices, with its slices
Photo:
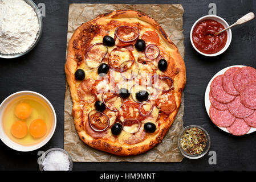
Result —
<instances>
[{"instance_id":1,"label":"white plate of overlapping pink salami slices, with its slices","mask_svg":"<svg viewBox=\"0 0 256 182\"><path fill-rule=\"evenodd\" d=\"M256 69L244 65L222 69L206 88L205 107L212 122L227 133L256 131Z\"/></svg>"}]
</instances>

